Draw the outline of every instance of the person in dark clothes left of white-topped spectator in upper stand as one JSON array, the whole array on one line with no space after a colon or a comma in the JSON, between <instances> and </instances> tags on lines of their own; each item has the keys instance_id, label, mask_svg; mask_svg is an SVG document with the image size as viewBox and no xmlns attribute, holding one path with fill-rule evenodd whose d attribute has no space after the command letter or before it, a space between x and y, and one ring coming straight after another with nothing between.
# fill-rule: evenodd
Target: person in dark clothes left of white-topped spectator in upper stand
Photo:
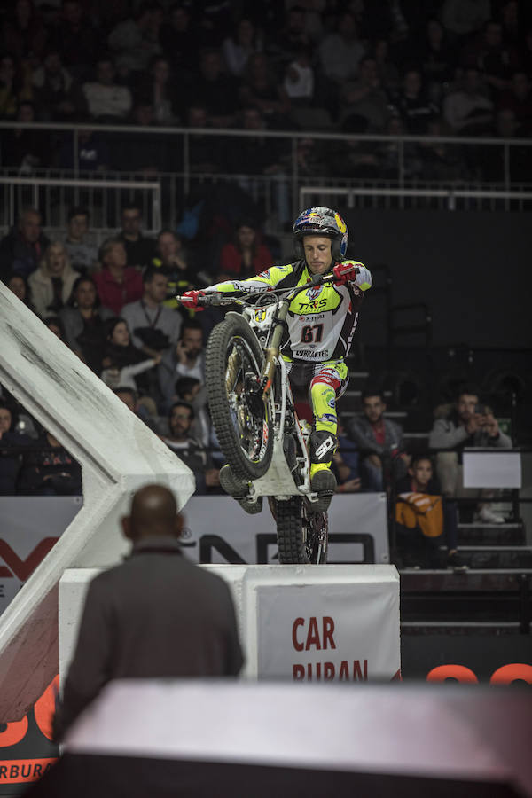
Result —
<instances>
[{"instance_id":1,"label":"person in dark clothes left of white-topped spectator in upper stand","mask_svg":"<svg viewBox=\"0 0 532 798\"><path fill-rule=\"evenodd\" d=\"M33 74L34 98L40 121L77 121L85 112L81 88L63 66L61 53L50 50Z\"/></svg>"}]
</instances>

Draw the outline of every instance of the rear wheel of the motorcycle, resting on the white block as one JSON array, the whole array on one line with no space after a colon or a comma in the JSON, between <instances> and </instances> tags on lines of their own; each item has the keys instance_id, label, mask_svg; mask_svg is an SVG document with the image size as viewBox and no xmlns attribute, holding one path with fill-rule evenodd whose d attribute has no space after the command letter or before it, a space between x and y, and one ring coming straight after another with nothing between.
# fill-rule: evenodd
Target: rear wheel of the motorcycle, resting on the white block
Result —
<instances>
[{"instance_id":1,"label":"rear wheel of the motorcycle, resting on the white block","mask_svg":"<svg viewBox=\"0 0 532 798\"><path fill-rule=\"evenodd\" d=\"M307 499L270 498L270 510L277 522L278 554L281 565L327 561L329 521L326 512L311 512Z\"/></svg>"}]
</instances>

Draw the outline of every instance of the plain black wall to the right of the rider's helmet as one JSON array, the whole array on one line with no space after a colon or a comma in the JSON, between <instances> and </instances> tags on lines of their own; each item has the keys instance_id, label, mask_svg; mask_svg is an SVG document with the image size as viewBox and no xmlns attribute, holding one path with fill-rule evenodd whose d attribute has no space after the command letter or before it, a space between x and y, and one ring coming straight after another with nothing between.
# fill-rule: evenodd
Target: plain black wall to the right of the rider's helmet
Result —
<instances>
[{"instance_id":1,"label":"plain black wall to the right of the rider's helmet","mask_svg":"<svg viewBox=\"0 0 532 798\"><path fill-rule=\"evenodd\" d=\"M390 210L345 218L349 254L390 267L393 304L426 302L434 345L532 347L532 214ZM368 295L360 340L383 345L385 319L383 298Z\"/></svg>"}]
</instances>

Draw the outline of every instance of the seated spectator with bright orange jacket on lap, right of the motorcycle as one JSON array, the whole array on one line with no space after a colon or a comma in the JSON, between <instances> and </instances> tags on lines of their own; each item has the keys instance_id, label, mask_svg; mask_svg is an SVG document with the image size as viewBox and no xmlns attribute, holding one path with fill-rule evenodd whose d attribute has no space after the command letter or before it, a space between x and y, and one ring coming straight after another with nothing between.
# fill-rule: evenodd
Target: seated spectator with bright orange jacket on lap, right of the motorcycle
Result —
<instances>
[{"instance_id":1,"label":"seated spectator with bright orange jacket on lap, right of the motorcycle","mask_svg":"<svg viewBox=\"0 0 532 798\"><path fill-rule=\"evenodd\" d=\"M397 481L395 493L395 534L403 565L441 567L440 550L444 547L445 565L454 571L467 570L457 551L456 502L442 497L427 455L412 459L408 474Z\"/></svg>"}]
</instances>

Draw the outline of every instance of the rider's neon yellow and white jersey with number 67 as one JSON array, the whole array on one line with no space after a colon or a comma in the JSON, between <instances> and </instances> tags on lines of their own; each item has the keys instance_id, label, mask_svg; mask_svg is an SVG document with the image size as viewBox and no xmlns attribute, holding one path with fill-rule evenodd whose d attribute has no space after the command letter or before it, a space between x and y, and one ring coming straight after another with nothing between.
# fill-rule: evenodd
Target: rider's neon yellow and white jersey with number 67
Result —
<instances>
[{"instance_id":1,"label":"rider's neon yellow and white jersey with number 67","mask_svg":"<svg viewBox=\"0 0 532 798\"><path fill-rule=\"evenodd\" d=\"M332 282L309 286L290 302L288 335L282 343L284 356L309 363L338 360L348 354L356 330L358 310L364 291L372 286L372 275L362 263L343 261L358 266L356 280L345 286ZM206 289L206 293L250 293L257 289L304 286L313 277L305 261L286 266L272 266L254 278L228 280Z\"/></svg>"}]
</instances>

